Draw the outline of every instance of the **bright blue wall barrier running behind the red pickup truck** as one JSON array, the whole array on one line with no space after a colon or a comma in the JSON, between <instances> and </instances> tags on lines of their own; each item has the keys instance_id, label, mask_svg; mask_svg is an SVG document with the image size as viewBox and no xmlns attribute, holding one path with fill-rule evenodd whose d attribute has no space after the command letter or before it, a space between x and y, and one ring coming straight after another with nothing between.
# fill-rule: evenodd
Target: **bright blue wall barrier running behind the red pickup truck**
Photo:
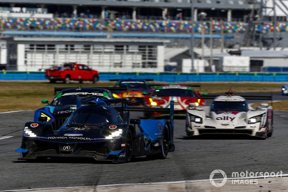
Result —
<instances>
[{"instance_id":1,"label":"bright blue wall barrier running behind the red pickup truck","mask_svg":"<svg viewBox=\"0 0 288 192\"><path fill-rule=\"evenodd\" d=\"M100 73L110 79L154 79L155 81L288 81L288 73ZM46 80L45 72L0 71L0 80Z\"/></svg>"}]
</instances>

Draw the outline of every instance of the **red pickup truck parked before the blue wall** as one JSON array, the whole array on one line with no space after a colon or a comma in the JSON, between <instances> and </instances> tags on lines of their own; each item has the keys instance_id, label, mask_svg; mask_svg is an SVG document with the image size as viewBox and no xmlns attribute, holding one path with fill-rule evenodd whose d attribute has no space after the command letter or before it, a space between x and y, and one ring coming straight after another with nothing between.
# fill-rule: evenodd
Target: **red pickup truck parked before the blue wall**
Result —
<instances>
[{"instance_id":1,"label":"red pickup truck parked before the blue wall","mask_svg":"<svg viewBox=\"0 0 288 192\"><path fill-rule=\"evenodd\" d=\"M49 79L50 83L55 83L56 81L70 83L71 80L77 80L80 83L82 81L93 81L93 83L96 83L99 79L99 73L84 64L65 63L63 67L46 69L45 78Z\"/></svg>"}]
</instances>

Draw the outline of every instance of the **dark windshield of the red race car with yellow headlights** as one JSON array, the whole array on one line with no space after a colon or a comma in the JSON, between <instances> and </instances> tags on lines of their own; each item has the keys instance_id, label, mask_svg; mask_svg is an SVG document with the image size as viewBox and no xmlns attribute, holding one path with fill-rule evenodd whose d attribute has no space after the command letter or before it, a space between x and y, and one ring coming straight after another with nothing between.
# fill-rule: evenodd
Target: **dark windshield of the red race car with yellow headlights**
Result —
<instances>
[{"instance_id":1,"label":"dark windshield of the red race car with yellow headlights","mask_svg":"<svg viewBox=\"0 0 288 192\"><path fill-rule=\"evenodd\" d=\"M156 89L152 96L158 97L195 97L195 92L188 89Z\"/></svg>"}]
</instances>

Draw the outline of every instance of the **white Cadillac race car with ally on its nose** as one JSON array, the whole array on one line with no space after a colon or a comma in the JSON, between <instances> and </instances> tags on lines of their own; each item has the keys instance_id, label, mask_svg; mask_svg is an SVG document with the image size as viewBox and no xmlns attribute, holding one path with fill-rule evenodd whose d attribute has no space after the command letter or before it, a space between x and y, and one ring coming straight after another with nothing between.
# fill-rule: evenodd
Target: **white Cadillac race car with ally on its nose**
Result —
<instances>
[{"instance_id":1,"label":"white Cadillac race car with ally on its nose","mask_svg":"<svg viewBox=\"0 0 288 192\"><path fill-rule=\"evenodd\" d=\"M262 103L256 110L250 110L246 102L246 99L272 100L272 96L234 94L235 92L228 91L225 96L210 96L214 98L211 107L196 107L194 103L190 103L186 111L187 136L204 133L249 134L264 138L272 136L273 108Z\"/></svg>"}]
</instances>

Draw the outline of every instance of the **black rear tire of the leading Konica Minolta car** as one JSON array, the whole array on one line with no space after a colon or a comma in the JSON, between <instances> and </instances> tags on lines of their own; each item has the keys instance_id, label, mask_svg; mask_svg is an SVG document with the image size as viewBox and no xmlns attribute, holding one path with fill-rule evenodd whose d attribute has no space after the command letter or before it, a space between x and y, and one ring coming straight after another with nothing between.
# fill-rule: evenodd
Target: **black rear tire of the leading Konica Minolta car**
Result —
<instances>
[{"instance_id":1,"label":"black rear tire of the leading Konica Minolta car","mask_svg":"<svg viewBox=\"0 0 288 192\"><path fill-rule=\"evenodd\" d=\"M161 153L154 155L146 155L148 159L165 159L169 151L169 131L167 125L164 126L163 136L162 136L162 145L160 147Z\"/></svg>"}]
</instances>

